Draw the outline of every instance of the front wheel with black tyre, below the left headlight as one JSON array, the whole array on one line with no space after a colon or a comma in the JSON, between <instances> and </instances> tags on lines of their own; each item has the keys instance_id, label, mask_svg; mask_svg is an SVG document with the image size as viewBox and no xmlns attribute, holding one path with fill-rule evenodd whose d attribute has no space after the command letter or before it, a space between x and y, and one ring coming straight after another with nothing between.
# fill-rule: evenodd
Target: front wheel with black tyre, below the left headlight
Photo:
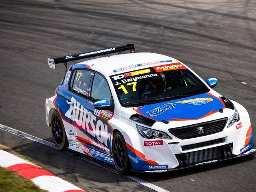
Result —
<instances>
[{"instance_id":1,"label":"front wheel with black tyre, below the left headlight","mask_svg":"<svg viewBox=\"0 0 256 192\"><path fill-rule=\"evenodd\" d=\"M112 146L115 168L122 175L128 174L131 171L131 163L128 157L126 142L119 131L114 134Z\"/></svg>"}]
</instances>

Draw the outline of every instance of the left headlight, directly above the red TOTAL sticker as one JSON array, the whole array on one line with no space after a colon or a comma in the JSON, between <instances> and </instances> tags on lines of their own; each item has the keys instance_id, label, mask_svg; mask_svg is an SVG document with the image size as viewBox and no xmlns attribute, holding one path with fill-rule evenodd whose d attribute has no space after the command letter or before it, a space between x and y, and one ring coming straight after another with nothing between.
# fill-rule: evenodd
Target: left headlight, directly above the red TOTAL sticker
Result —
<instances>
[{"instance_id":1,"label":"left headlight, directly above the red TOTAL sticker","mask_svg":"<svg viewBox=\"0 0 256 192\"><path fill-rule=\"evenodd\" d=\"M169 135L167 135L166 133L164 133L162 131L149 129L147 127L143 127L143 126L139 126L139 125L136 125L136 127L139 132L139 135L141 135L142 137L145 137L145 138L173 139Z\"/></svg>"}]
</instances>

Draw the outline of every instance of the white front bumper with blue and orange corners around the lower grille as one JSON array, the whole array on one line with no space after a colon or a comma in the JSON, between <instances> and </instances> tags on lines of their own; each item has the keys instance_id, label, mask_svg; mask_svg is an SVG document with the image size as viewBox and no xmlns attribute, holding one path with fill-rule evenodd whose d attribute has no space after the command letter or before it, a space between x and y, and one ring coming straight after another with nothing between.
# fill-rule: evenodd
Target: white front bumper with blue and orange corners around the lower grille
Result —
<instances>
[{"instance_id":1,"label":"white front bumper with blue and orange corners around the lower grille","mask_svg":"<svg viewBox=\"0 0 256 192\"><path fill-rule=\"evenodd\" d=\"M163 170L167 170L167 168L168 170L177 170L244 156L243 154L254 146L252 127L246 109L238 103L234 103L239 111L240 120L230 127L227 127L227 122L221 132L186 139L170 135L173 139L164 139L161 142L159 139L150 140L138 135L136 139L133 139L133 141L137 141L137 144L133 146L139 146L138 151L145 158L136 157L128 151L132 168L138 172L154 170L166 172ZM149 141L155 141L155 143L146 146L144 143ZM158 141L157 145L156 141ZM225 146L229 146L230 150L224 150ZM182 155L185 155L187 159L183 158L182 161L182 158L179 158Z\"/></svg>"}]
</instances>

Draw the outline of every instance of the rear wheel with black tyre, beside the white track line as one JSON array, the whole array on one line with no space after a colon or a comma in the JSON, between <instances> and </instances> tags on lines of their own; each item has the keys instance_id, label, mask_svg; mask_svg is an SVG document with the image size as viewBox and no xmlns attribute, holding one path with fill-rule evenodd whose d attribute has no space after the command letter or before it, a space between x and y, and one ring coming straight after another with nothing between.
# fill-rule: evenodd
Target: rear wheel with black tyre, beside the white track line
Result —
<instances>
[{"instance_id":1,"label":"rear wheel with black tyre, beside the white track line","mask_svg":"<svg viewBox=\"0 0 256 192\"><path fill-rule=\"evenodd\" d=\"M69 146L69 142L65 133L65 128L63 126L63 122L58 111L54 111L54 113L52 114L51 132L54 144L56 145L58 150L64 150Z\"/></svg>"}]
</instances>

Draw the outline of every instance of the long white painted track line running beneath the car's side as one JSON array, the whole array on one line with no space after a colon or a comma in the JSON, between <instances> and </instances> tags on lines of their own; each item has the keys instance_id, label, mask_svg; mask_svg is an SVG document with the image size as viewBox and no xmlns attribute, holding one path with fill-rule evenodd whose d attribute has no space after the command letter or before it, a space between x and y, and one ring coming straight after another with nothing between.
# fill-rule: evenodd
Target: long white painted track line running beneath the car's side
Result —
<instances>
[{"instance_id":1,"label":"long white painted track line running beneath the car's side","mask_svg":"<svg viewBox=\"0 0 256 192\"><path fill-rule=\"evenodd\" d=\"M24 137L24 138L27 138L27 139L29 139L29 140L32 140L32 141L41 143L41 144L46 145L46 146L49 146L49 147L51 147L51 148L57 149L56 146L55 146L53 143L48 142L48 141L43 140L43 139L38 138L38 137L34 137L34 136L32 136L32 135L29 135L29 134L24 133L24 132L22 132L22 131L19 131L19 130L17 130L17 129L13 129L13 128L11 128L11 127L7 127L7 126L4 126L4 125L2 125L2 124L0 124L0 129L2 129L2 130L4 130L4 131L7 131L7 132L9 132L9 133L12 133L12 134L14 134L14 135L18 135L18 136L20 136L20 137ZM63 151L63 152L64 152L64 153L67 153L67 154L69 154L69 155L75 156L75 155L73 155L72 153L69 153L69 152L67 152L67 151ZM75 157L77 157L77 156L75 156ZM102 166L102 165L100 165L100 164L99 164L98 162L96 162L96 161L94 162L94 161L91 161L91 160L89 160L89 159L85 159L85 158L82 158L82 157L77 157L77 158L82 159L82 160L87 161L87 162L90 162L90 163L93 163L93 164L95 164L95 165L97 165L97 166L100 166L101 168L107 169L107 170L109 170L109 171L111 171L111 172L113 172L113 173L115 173L115 174L121 175L121 174L119 174L114 168ZM137 178L137 177L134 177L134 176L132 176L132 175L121 175L121 176L126 177L126 178L128 178L128 179L130 179L130 180L132 180L132 181L135 181L136 183L139 183L139 184L141 184L141 185L143 185L143 186L146 186L146 187L148 187L148 188L150 188L150 189L152 189L152 190L155 190L155 191L157 191L157 192L169 192L168 190L165 190L165 189L163 189L163 188L161 188L161 187L159 187L159 186L156 186L156 185L154 185L154 184L152 184L152 183L148 183L147 181L144 181L144 180L139 179L139 178Z\"/></svg>"}]
</instances>

